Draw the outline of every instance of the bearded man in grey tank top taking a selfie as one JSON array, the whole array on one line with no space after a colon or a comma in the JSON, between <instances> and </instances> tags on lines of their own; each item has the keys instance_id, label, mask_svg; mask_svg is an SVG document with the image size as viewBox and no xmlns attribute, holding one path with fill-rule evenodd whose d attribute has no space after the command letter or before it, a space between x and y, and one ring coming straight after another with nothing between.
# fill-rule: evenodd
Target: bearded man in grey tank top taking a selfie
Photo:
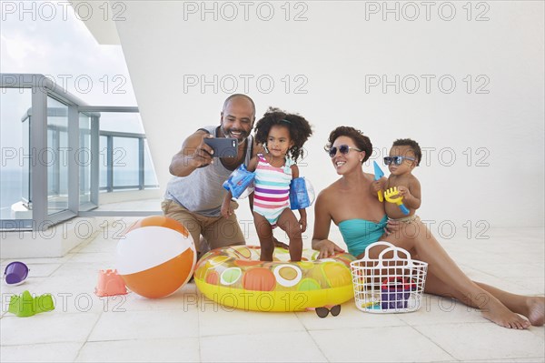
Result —
<instances>
[{"instance_id":1,"label":"bearded man in grey tank top taking a selfie","mask_svg":"<svg viewBox=\"0 0 545 363\"><path fill-rule=\"evenodd\" d=\"M229 96L223 103L220 126L205 126L183 141L182 150L173 156L169 167L173 175L166 187L163 213L183 223L191 233L199 255L217 247L245 244L243 231L233 214L222 217L225 189L223 182L241 164L263 146L257 146L250 135L255 121L255 105L245 95ZM233 137L238 140L236 157L215 157L204 138ZM233 210L238 204L232 201ZM204 240L200 240L200 236Z\"/></svg>"}]
</instances>

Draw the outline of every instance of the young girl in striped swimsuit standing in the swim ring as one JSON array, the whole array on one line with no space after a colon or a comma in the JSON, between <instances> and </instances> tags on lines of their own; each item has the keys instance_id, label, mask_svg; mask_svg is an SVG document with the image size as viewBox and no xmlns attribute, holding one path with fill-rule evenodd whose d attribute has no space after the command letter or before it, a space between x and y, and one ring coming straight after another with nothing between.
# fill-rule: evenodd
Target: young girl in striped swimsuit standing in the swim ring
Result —
<instances>
[{"instance_id":1,"label":"young girl in striped swimsuit standing in the swim ring","mask_svg":"<svg viewBox=\"0 0 545 363\"><path fill-rule=\"evenodd\" d=\"M301 261L301 235L306 230L306 210L299 209L301 217L297 220L290 209L289 195L292 178L299 177L295 162L302 156L302 146L311 135L311 126L304 117L272 107L255 126L255 141L263 144L266 152L253 157L247 170L255 171L255 190L250 196L250 205L262 261L272 261L272 229L277 226L290 238L292 261ZM224 217L233 213L230 209L232 197L228 192L223 199Z\"/></svg>"}]
</instances>

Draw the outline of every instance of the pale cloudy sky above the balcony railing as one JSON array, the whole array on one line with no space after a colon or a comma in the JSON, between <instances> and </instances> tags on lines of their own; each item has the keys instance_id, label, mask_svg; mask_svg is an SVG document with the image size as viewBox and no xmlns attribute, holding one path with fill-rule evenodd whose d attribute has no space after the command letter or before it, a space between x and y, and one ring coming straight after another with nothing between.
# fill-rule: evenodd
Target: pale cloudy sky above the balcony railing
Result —
<instances>
[{"instance_id":1,"label":"pale cloudy sky above the balcony railing","mask_svg":"<svg viewBox=\"0 0 545 363\"><path fill-rule=\"evenodd\" d=\"M121 45L99 45L71 6L0 1L0 8L1 73L45 75L87 105L137 106ZM0 91L3 150L20 147L29 107L29 92Z\"/></svg>"}]
</instances>

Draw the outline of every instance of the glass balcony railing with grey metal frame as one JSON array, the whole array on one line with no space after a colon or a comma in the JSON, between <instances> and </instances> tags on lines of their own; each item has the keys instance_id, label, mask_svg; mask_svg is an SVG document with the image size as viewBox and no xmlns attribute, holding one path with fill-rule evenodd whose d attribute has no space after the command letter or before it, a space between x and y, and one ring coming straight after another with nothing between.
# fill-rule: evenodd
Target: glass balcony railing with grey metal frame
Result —
<instances>
[{"instance_id":1,"label":"glass balcony railing with grey metal frame","mask_svg":"<svg viewBox=\"0 0 545 363\"><path fill-rule=\"evenodd\" d=\"M43 229L92 215L102 193L159 187L137 107L87 106L45 76L1 74L0 126L2 229Z\"/></svg>"}]
</instances>

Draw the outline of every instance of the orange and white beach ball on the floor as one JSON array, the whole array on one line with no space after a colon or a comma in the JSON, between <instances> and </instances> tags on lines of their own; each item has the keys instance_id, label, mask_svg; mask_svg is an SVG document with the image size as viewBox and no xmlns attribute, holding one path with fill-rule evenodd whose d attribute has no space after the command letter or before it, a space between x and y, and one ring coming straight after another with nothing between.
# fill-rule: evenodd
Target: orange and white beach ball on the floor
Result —
<instances>
[{"instance_id":1,"label":"orange and white beach ball on the floor","mask_svg":"<svg viewBox=\"0 0 545 363\"><path fill-rule=\"evenodd\" d=\"M116 268L125 285L143 297L171 295L193 275L193 238L173 218L145 217L117 244Z\"/></svg>"}]
</instances>

